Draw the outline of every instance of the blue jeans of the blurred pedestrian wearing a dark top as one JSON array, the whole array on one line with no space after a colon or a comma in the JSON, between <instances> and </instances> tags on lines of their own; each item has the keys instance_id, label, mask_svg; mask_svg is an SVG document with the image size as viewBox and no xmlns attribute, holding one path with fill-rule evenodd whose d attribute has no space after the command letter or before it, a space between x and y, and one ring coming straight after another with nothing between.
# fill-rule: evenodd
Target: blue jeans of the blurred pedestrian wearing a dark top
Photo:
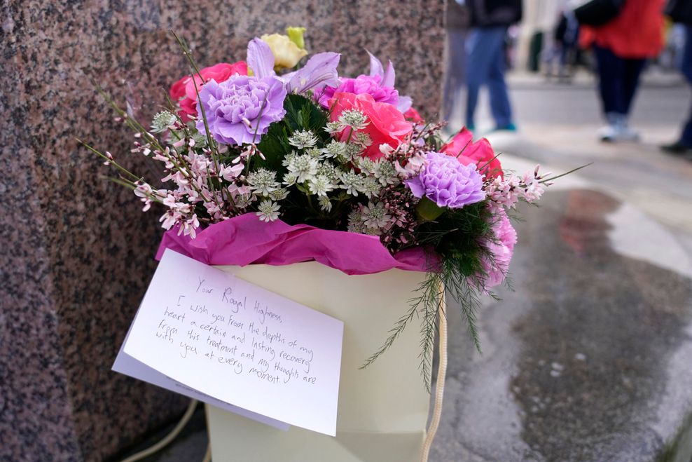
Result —
<instances>
[{"instance_id":1,"label":"blue jeans of the blurred pedestrian wearing a dark top","mask_svg":"<svg viewBox=\"0 0 692 462\"><path fill-rule=\"evenodd\" d=\"M475 125L473 114L480 87L487 85L490 112L495 125L504 128L512 123L512 108L504 81L504 38L507 27L478 27L466 37L466 125Z\"/></svg>"}]
</instances>

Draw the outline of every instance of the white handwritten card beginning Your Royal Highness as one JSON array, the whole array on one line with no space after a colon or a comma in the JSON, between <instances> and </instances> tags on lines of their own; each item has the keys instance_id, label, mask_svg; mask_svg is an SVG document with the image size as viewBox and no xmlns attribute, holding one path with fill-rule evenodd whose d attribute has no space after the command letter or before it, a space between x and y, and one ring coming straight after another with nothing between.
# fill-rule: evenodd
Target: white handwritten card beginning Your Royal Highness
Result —
<instances>
[{"instance_id":1,"label":"white handwritten card beginning Your Royal Highness","mask_svg":"<svg viewBox=\"0 0 692 462\"><path fill-rule=\"evenodd\" d=\"M122 353L212 405L335 435L342 335L340 320L166 250Z\"/></svg>"}]
</instances>

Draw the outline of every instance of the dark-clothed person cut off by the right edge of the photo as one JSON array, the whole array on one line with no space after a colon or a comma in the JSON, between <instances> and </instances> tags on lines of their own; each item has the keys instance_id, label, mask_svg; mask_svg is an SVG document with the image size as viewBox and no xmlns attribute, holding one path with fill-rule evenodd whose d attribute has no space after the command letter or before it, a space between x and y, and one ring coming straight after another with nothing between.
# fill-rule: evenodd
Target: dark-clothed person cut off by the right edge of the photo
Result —
<instances>
[{"instance_id":1,"label":"dark-clothed person cut off by the right edge of the photo","mask_svg":"<svg viewBox=\"0 0 692 462\"><path fill-rule=\"evenodd\" d=\"M682 49L680 70L686 81L692 85L692 0L670 0L665 7L665 14L673 22L684 25L685 44ZM671 154L686 154L692 150L692 109L678 140L662 146L663 151Z\"/></svg>"}]
</instances>

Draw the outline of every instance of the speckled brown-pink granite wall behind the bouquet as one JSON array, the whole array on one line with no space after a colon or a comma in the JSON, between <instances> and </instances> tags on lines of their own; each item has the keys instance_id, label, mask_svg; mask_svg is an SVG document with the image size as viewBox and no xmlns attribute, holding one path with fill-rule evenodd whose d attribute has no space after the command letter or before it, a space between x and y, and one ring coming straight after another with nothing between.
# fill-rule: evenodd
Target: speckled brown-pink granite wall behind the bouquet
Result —
<instances>
[{"instance_id":1,"label":"speckled brown-pink granite wall behind the bouquet","mask_svg":"<svg viewBox=\"0 0 692 462\"><path fill-rule=\"evenodd\" d=\"M244 58L258 34L305 25L307 47L366 70L396 64L402 93L436 113L443 0L27 1L0 6L0 460L98 461L182 412L186 399L111 372L151 278L157 217L74 137L126 154L130 134L94 78L143 118L186 73ZM423 106L424 105L424 106ZM141 160L124 162L141 169Z\"/></svg>"}]
</instances>

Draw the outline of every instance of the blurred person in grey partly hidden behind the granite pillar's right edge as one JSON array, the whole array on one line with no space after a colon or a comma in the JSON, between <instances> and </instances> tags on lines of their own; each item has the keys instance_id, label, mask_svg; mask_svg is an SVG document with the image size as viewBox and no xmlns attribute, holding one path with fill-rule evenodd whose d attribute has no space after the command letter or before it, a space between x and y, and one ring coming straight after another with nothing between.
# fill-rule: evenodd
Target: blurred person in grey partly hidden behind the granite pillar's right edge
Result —
<instances>
[{"instance_id":1,"label":"blurred person in grey partly hidden behind the granite pillar's right edge","mask_svg":"<svg viewBox=\"0 0 692 462\"><path fill-rule=\"evenodd\" d=\"M464 90L464 73L466 72L466 50L464 42L469 33L469 10L464 0L447 2L447 47L445 48L446 66L443 90L443 119L452 122L455 108L461 104L461 93ZM455 119L456 120L456 119ZM452 130L456 133L456 130ZM450 131L450 133L452 133Z\"/></svg>"}]
</instances>

